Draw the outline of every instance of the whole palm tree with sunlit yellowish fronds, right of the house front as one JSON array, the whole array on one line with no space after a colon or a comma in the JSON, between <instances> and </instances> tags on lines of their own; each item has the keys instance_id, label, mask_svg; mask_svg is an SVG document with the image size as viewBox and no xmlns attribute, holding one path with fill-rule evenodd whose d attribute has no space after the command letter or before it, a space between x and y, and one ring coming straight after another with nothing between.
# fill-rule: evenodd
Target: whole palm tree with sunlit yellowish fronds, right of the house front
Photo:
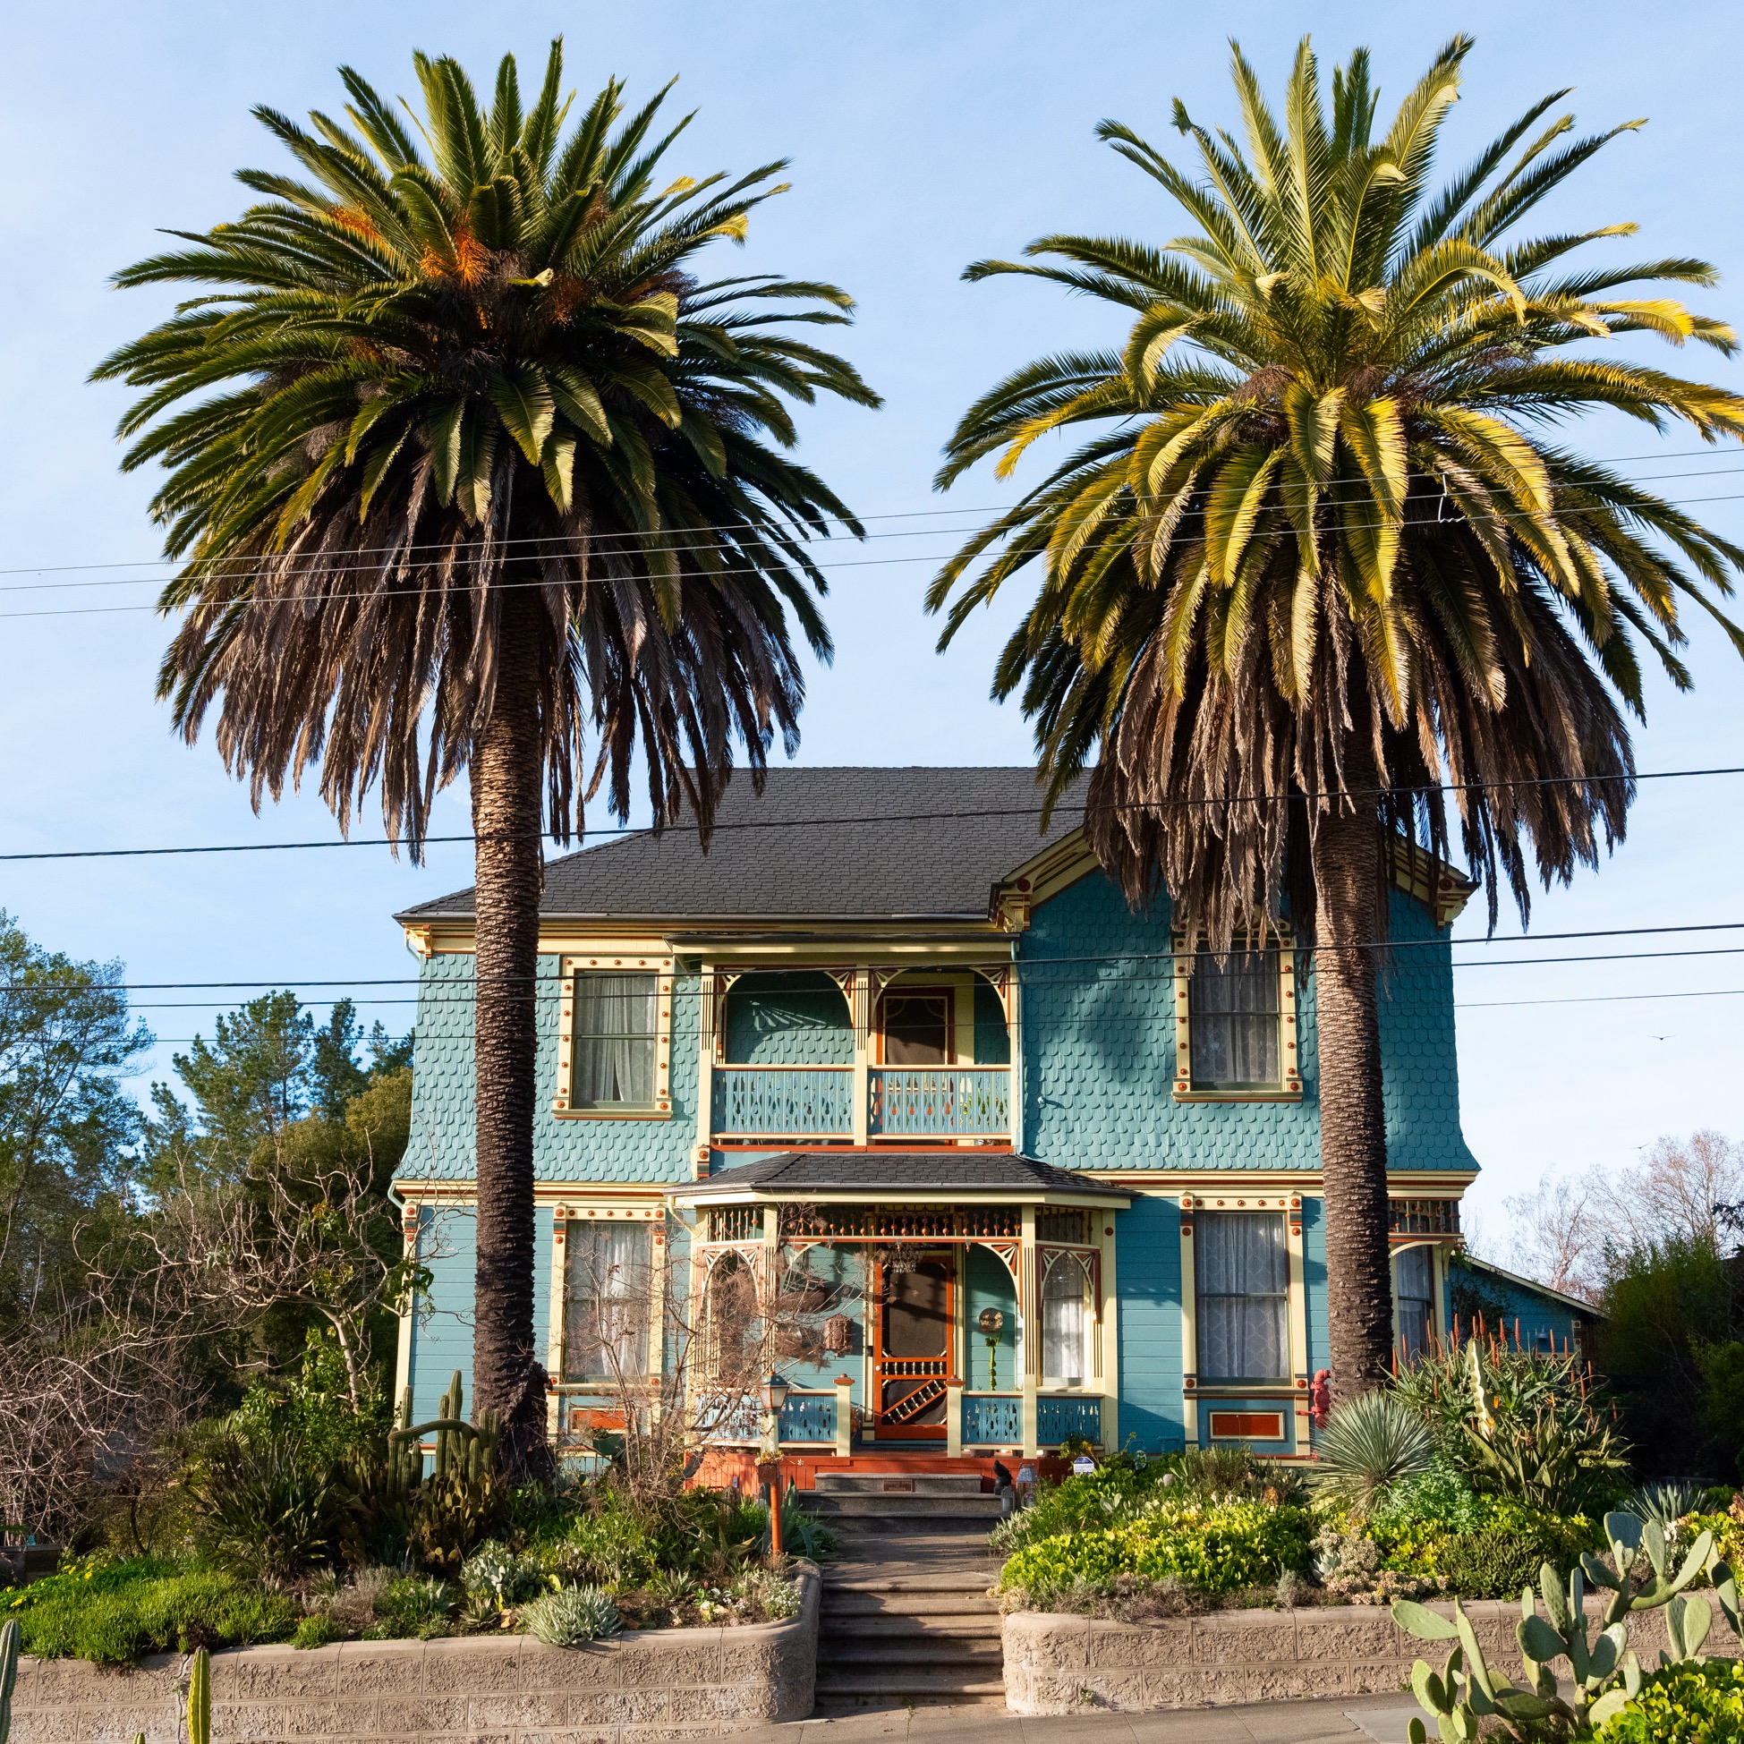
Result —
<instances>
[{"instance_id":1,"label":"whole palm tree with sunlit yellowish fronds, right of the house front","mask_svg":"<svg viewBox=\"0 0 1744 1744\"><path fill-rule=\"evenodd\" d=\"M1034 603L994 694L1022 689L1050 802L1092 760L1087 828L1128 900L1158 882L1228 949L1285 909L1317 945L1331 1360L1355 1393L1392 1346L1376 952L1399 835L1449 837L1524 919L1528 860L1566 881L1624 832L1624 710L1645 645L1679 687L1679 605L1718 610L1744 551L1554 441L1613 408L1706 441L1744 401L1587 340L1653 333L1734 351L1728 326L1648 281L1713 284L1699 260L1573 265L1631 225L1516 239L1608 140L1528 110L1432 183L1470 49L1456 37L1385 133L1357 51L1322 99L1305 40L1284 119L1235 51L1245 150L1175 103L1198 174L1128 127L1100 138L1186 208L1162 246L1048 235L1029 274L1130 323L1118 352L1041 358L950 438L949 487L1039 438L1074 448L945 565L944 642L1025 570ZM1627 124L1639 126L1638 122ZM1034 260L1039 256L1039 262ZM1571 347L1577 347L1571 351ZM954 595L954 600L952 600ZM1744 637L1721 617L1734 644ZM1446 799L1453 794L1449 818Z\"/></svg>"}]
</instances>

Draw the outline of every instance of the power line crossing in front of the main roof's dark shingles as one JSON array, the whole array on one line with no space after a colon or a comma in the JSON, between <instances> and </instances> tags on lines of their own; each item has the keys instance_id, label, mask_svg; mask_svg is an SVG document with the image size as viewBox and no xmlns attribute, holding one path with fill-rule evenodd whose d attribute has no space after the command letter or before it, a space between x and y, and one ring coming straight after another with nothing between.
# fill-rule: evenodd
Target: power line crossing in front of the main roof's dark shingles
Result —
<instances>
[{"instance_id":1,"label":"power line crossing in front of the main roof's dark shingles","mask_svg":"<svg viewBox=\"0 0 1744 1744\"><path fill-rule=\"evenodd\" d=\"M1167 807L1162 809L1200 809L1210 806L1277 806L1291 804L1292 800L1318 800L1318 799L1380 799L1388 794L1414 797L1420 794L1437 792L1437 794L1500 794L1510 792L1514 788L1540 788L1540 787L1601 787L1611 781L1686 781L1695 776L1732 776L1744 774L1744 764L1725 764L1713 769L1645 769L1632 771L1627 774L1545 774L1545 776L1523 776L1517 781L1437 781L1434 788L1430 787L1353 787L1341 794L1306 790L1292 794L1226 794L1226 795L1203 795L1191 799L1172 799ZM739 821L722 821L710 825L712 834L738 832L738 830L813 830L813 828L835 828L842 825L863 825L863 823L944 823L959 821L964 818L1039 818L1041 813L1048 809L1045 806L992 806L985 809L957 809L957 811L889 811L889 813L863 813L858 816L844 818L745 818ZM1090 811L1149 811L1153 807L1146 800L1132 800L1123 806L1087 806L1087 804L1059 804L1052 807L1055 816L1087 816ZM671 823L666 825L668 830L689 834L689 825ZM605 837L621 839L628 835L654 835L656 832L647 825L616 825L598 830L582 830L577 834L577 848L574 853L586 851L588 837ZM546 841L549 832L541 830L532 841ZM471 832L460 832L455 835L424 835L420 837L422 846L441 846L452 842L514 842L527 841L528 837L504 834L504 835L476 835ZM45 848L31 849L28 853L9 853L0 855L0 863L21 862L21 860L141 860L157 858L162 855L263 855L263 853L290 853L310 848L384 848L391 846L387 841L351 841L349 837L340 837L338 841L324 842L213 842L197 846L180 846L180 848ZM392 844L398 846L398 841Z\"/></svg>"}]
</instances>

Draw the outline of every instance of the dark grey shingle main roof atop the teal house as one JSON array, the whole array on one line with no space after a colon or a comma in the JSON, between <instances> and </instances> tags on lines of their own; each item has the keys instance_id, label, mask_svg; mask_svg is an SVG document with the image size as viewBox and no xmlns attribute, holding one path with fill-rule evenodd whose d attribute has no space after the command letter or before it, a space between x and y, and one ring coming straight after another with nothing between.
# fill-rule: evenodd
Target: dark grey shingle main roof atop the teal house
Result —
<instances>
[{"instance_id":1,"label":"dark grey shingle main roof atop the teal house","mask_svg":"<svg viewBox=\"0 0 1744 1744\"><path fill-rule=\"evenodd\" d=\"M687 823L565 855L546 867L539 909L705 923L980 919L1001 877L1076 828L1062 806L1041 835L1039 806L1027 767L771 769L762 795L739 774L706 855ZM471 912L462 889L399 919Z\"/></svg>"}]
</instances>

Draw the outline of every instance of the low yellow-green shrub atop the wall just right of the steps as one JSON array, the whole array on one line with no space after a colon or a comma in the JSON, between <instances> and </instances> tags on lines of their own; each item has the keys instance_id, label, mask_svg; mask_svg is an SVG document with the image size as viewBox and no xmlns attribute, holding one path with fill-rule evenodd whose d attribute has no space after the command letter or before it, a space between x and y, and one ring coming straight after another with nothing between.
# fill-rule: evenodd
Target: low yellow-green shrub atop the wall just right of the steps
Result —
<instances>
[{"instance_id":1,"label":"low yellow-green shrub atop the wall just right of the steps","mask_svg":"<svg viewBox=\"0 0 1744 1744\"><path fill-rule=\"evenodd\" d=\"M1181 1580L1217 1596L1270 1585L1308 1566L1313 1521L1306 1509L1247 1500L1162 1498L1121 1526L1032 1540L1006 1564L999 1585L1032 1601L1074 1582L1116 1575Z\"/></svg>"}]
</instances>

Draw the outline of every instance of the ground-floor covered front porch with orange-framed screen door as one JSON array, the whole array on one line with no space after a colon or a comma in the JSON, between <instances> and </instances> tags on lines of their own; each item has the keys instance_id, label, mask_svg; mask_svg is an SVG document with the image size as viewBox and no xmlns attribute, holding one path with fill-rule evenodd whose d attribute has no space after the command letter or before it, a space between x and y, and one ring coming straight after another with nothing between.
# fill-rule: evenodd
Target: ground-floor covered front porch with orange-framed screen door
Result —
<instances>
[{"instance_id":1,"label":"ground-floor covered front porch with orange-framed screen door","mask_svg":"<svg viewBox=\"0 0 1744 1744\"><path fill-rule=\"evenodd\" d=\"M783 1451L902 1463L1118 1442L1114 1217L1132 1195L1012 1153L795 1151L678 1188L692 1291L787 1292ZM726 1268L726 1270L722 1270ZM722 1435L755 1441L746 1421Z\"/></svg>"}]
</instances>

